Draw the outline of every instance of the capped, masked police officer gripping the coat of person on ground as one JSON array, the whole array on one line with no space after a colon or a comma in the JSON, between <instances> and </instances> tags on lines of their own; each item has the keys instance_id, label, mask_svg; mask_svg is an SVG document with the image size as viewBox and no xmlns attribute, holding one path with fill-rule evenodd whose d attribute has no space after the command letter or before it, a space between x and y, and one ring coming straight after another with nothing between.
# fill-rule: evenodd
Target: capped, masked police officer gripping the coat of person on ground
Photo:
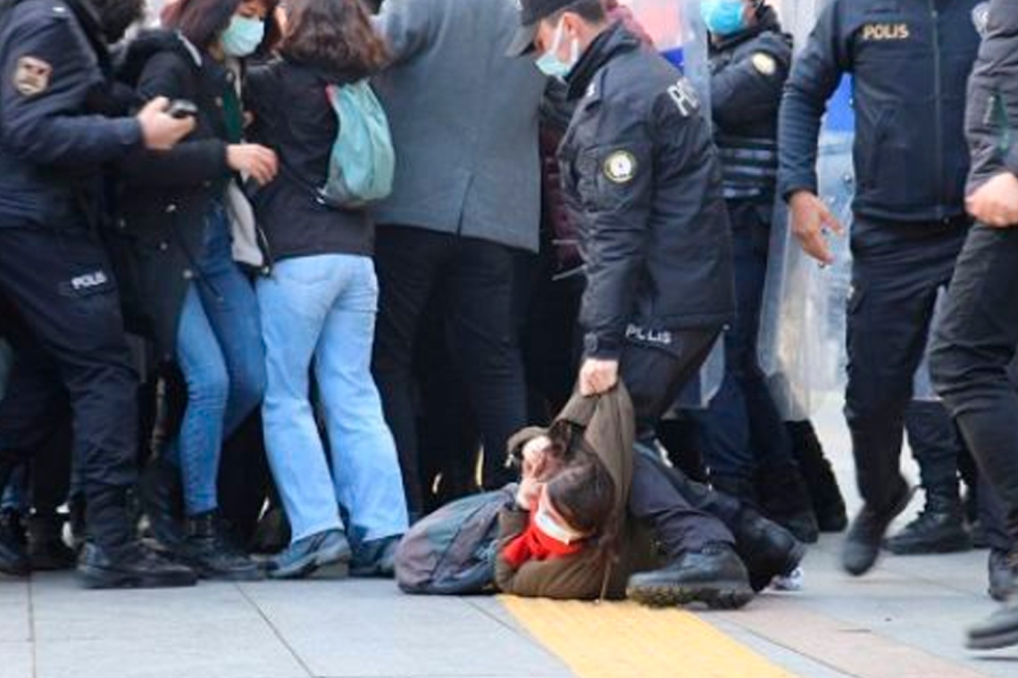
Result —
<instances>
[{"instance_id":1,"label":"capped, masked police officer gripping the coat of person on ground","mask_svg":"<svg viewBox=\"0 0 1018 678\"><path fill-rule=\"evenodd\" d=\"M579 390L621 378L637 437L655 427L732 319L732 244L721 167L692 86L601 0L523 0L510 54L565 78L576 104L559 149L563 188L586 262ZM636 454L629 511L651 522L671 564L633 575L642 602L745 604L752 593L734 538Z\"/></svg>"}]
</instances>

